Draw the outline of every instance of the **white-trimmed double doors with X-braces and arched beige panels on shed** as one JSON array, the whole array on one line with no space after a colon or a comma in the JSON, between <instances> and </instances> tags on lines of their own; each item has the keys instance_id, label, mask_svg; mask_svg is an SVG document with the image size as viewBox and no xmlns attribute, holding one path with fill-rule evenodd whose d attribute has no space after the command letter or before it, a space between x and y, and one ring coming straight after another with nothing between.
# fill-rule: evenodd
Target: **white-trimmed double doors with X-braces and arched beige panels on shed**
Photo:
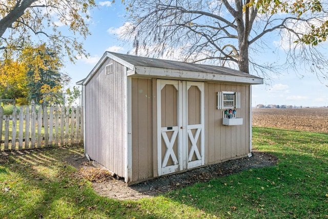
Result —
<instances>
[{"instance_id":1,"label":"white-trimmed double doors with X-braces and arched beige panels on shed","mask_svg":"<svg viewBox=\"0 0 328 219\"><path fill-rule=\"evenodd\" d=\"M157 80L157 165L164 175L204 165L204 83Z\"/></svg>"}]
</instances>

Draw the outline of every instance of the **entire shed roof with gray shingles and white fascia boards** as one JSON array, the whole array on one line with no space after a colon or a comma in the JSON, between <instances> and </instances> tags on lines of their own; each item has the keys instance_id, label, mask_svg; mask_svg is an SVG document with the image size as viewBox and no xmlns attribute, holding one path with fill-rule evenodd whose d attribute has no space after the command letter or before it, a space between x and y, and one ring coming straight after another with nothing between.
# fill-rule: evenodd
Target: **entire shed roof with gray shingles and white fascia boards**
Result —
<instances>
[{"instance_id":1,"label":"entire shed roof with gray shingles and white fascia boards","mask_svg":"<svg viewBox=\"0 0 328 219\"><path fill-rule=\"evenodd\" d=\"M263 84L263 78L227 67L178 62L115 52L105 52L90 74L84 79L83 84L88 83L92 75L107 58L111 58L126 66L128 68L128 76L132 77L156 77L237 84Z\"/></svg>"}]
</instances>

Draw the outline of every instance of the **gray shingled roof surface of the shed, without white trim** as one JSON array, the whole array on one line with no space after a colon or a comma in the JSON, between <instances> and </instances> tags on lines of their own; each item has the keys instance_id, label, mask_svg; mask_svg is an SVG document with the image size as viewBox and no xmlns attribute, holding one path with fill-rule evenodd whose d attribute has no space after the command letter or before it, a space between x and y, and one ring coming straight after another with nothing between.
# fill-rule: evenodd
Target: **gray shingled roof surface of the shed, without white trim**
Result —
<instances>
[{"instance_id":1,"label":"gray shingled roof surface of the shed, without white trim","mask_svg":"<svg viewBox=\"0 0 328 219\"><path fill-rule=\"evenodd\" d=\"M163 68L163 69L174 69L174 70L185 70L185 71L194 71L194 72L204 72L204 73L214 73L214 74L225 74L225 75L234 75L234 76L243 76L243 77L253 77L260 78L255 75L244 73L238 70L234 70L227 67L221 66L212 66L212 65L202 65L194 63L185 63L178 61L171 61L166 59L158 58L148 58L136 55L121 54L115 52L109 52L115 55L118 58L134 65L134 66L144 66L152 68Z\"/></svg>"}]
</instances>

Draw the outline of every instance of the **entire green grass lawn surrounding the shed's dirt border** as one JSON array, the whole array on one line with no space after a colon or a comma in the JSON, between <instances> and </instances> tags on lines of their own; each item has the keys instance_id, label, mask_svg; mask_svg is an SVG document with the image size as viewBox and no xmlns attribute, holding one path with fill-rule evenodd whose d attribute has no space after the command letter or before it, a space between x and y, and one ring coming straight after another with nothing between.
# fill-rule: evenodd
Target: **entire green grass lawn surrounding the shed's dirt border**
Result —
<instances>
[{"instance_id":1,"label":"entire green grass lawn surrounding the shed's dirt border","mask_svg":"<svg viewBox=\"0 0 328 219\"><path fill-rule=\"evenodd\" d=\"M328 218L327 133L253 128L253 148L279 163L138 201L101 197L74 177L63 157L83 147L10 156L0 218Z\"/></svg>"}]
</instances>

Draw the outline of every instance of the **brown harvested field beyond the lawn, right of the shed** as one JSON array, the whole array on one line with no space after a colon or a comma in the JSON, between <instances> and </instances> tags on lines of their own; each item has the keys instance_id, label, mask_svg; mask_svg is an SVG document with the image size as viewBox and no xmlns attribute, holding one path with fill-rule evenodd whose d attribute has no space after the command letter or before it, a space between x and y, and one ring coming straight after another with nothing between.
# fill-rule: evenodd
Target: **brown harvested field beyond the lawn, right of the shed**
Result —
<instances>
[{"instance_id":1,"label":"brown harvested field beyond the lawn, right of the shed","mask_svg":"<svg viewBox=\"0 0 328 219\"><path fill-rule=\"evenodd\" d=\"M328 108L252 109L252 125L328 133Z\"/></svg>"}]
</instances>

